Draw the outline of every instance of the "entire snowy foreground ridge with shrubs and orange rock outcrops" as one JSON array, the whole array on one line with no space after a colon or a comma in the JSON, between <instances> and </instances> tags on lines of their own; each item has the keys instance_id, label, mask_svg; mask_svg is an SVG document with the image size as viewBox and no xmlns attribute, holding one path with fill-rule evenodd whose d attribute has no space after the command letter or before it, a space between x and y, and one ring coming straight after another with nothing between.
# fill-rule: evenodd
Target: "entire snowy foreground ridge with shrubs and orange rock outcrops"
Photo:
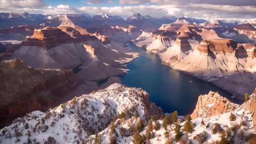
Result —
<instances>
[{"instance_id":1,"label":"entire snowy foreground ridge with shrubs and orange rock outcrops","mask_svg":"<svg viewBox=\"0 0 256 144\"><path fill-rule=\"evenodd\" d=\"M239 106L210 91L185 119L163 115L146 91L114 83L17 118L0 130L0 143L255 144L255 99Z\"/></svg>"}]
</instances>

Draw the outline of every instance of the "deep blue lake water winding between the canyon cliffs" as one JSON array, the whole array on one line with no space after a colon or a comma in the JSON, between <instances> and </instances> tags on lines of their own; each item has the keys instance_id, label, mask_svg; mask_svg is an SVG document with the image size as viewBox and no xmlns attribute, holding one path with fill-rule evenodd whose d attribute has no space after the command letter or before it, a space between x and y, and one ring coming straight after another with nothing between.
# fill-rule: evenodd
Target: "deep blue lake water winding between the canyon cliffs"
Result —
<instances>
[{"instance_id":1,"label":"deep blue lake water winding between the canyon cliffs","mask_svg":"<svg viewBox=\"0 0 256 144\"><path fill-rule=\"evenodd\" d=\"M179 115L191 114L196 106L197 98L210 90L218 91L235 103L241 103L232 95L213 85L191 75L176 71L161 63L160 58L134 44L127 45L139 53L139 57L128 63L129 73L121 76L123 84L130 87L140 87L150 95L150 100L161 107L164 112L177 110Z\"/></svg>"}]
</instances>

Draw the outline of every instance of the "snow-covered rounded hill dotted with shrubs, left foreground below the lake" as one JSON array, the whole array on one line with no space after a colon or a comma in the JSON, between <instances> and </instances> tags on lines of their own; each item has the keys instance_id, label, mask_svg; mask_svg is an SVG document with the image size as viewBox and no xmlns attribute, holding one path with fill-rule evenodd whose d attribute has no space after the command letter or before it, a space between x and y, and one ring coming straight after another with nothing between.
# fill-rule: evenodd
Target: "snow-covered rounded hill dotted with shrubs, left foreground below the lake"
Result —
<instances>
[{"instance_id":1,"label":"snow-covered rounded hill dotted with shrubs, left foreground below the lake","mask_svg":"<svg viewBox=\"0 0 256 144\"><path fill-rule=\"evenodd\" d=\"M126 118L137 113L146 122L151 115L160 115L161 110L149 102L146 91L114 83L46 112L34 111L17 118L11 126L0 130L0 143L81 143L86 136L106 128L121 113Z\"/></svg>"}]
</instances>

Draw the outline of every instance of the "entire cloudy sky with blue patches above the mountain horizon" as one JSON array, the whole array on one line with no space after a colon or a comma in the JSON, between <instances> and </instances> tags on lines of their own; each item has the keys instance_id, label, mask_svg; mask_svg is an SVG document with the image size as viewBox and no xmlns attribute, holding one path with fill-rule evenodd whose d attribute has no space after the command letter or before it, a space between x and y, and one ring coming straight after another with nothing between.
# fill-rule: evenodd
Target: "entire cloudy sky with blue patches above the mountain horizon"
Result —
<instances>
[{"instance_id":1,"label":"entire cloudy sky with blue patches above the mountain horizon","mask_svg":"<svg viewBox=\"0 0 256 144\"><path fill-rule=\"evenodd\" d=\"M244 20L256 18L256 0L0 0L0 12Z\"/></svg>"}]
</instances>

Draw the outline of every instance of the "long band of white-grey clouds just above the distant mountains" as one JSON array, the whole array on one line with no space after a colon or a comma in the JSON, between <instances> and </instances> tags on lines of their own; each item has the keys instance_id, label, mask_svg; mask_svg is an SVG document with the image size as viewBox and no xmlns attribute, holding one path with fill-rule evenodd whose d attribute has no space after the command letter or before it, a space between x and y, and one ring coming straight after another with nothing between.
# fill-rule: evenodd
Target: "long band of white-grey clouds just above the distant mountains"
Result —
<instances>
[{"instance_id":1,"label":"long band of white-grey clouds just above the distant mountains","mask_svg":"<svg viewBox=\"0 0 256 144\"><path fill-rule=\"evenodd\" d=\"M8 3L8 1L10 3ZM176 16L176 17L193 17L205 19L247 19L255 18L256 6L239 6L239 5L217 5L208 3L196 4L198 1L207 0L188 0L194 3L181 4L175 3L175 0L129 0L130 3L141 2L146 4L136 4L132 6L115 6L115 7L71 7L69 5L60 4L58 6L46 6L42 0L0 0L0 11L2 12L28 12L42 14L99 14L106 13L109 15L119 15L128 18L135 13L142 15L151 15L155 17ZM32 2L33 4L29 3ZM88 0L87 0L88 1ZM102 1L102 0L99 0ZM110 1L110 0L103 0ZM121 1L121 0L120 0ZM125 0L122 0L125 2ZM158 4L159 1L169 4ZM217 2L219 0L216 0ZM225 0L223 0L225 1ZM235 2L237 0L234 0ZM247 0L245 0L246 2ZM152 2L152 3L148 3ZM156 4L155 4L156 3ZM211 2L212 3L212 2ZM238 4L238 3L237 3Z\"/></svg>"}]
</instances>

